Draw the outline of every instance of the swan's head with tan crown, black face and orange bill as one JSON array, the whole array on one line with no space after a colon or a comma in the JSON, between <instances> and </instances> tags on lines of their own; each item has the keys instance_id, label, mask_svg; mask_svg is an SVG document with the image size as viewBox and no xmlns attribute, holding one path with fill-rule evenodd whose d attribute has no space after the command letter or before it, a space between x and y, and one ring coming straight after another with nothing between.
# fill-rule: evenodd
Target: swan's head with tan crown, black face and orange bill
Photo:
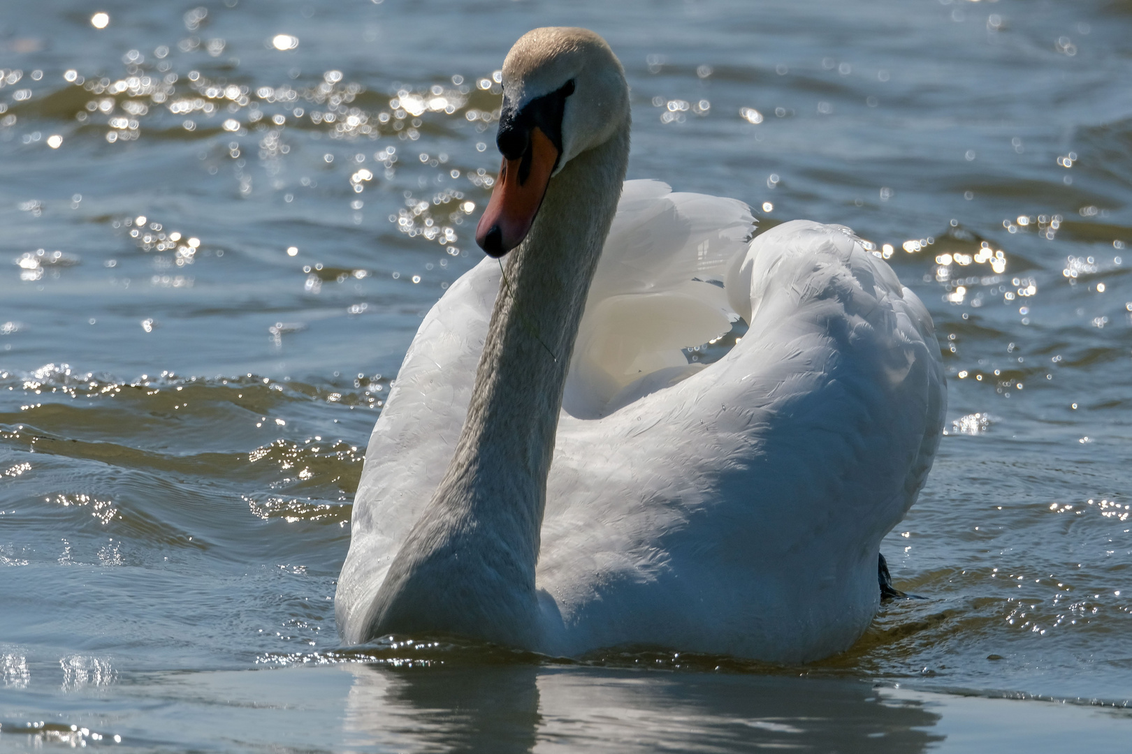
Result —
<instances>
[{"instance_id":1,"label":"swan's head with tan crown, black face and orange bill","mask_svg":"<svg viewBox=\"0 0 1132 754\"><path fill-rule=\"evenodd\" d=\"M475 229L480 248L503 257L522 243L551 179L628 119L625 71L604 40L561 26L520 37L503 63L503 167Z\"/></svg>"}]
</instances>

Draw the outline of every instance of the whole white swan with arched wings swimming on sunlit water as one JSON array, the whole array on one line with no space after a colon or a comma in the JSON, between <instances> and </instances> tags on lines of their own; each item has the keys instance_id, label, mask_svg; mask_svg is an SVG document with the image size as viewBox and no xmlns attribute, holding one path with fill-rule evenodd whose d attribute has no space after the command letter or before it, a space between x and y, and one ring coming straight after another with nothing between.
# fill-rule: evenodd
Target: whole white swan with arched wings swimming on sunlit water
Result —
<instances>
[{"instance_id":1,"label":"whole white swan with arched wings swimming on sunlit water","mask_svg":"<svg viewBox=\"0 0 1132 754\"><path fill-rule=\"evenodd\" d=\"M421 322L374 428L343 641L847 649L942 433L926 309L847 227L748 243L743 202L625 182L628 87L593 32L525 34L503 88L488 257ZM738 318L734 348L689 363Z\"/></svg>"}]
</instances>

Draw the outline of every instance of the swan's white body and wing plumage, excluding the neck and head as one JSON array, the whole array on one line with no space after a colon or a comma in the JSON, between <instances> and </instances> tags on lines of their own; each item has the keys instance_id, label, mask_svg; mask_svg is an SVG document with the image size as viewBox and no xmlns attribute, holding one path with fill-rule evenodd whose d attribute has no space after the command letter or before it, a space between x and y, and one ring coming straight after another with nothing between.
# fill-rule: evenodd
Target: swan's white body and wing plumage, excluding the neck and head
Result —
<instances>
[{"instance_id":1,"label":"swan's white body and wing plumage, excluding the neck and head","mask_svg":"<svg viewBox=\"0 0 1132 754\"><path fill-rule=\"evenodd\" d=\"M942 431L932 320L848 228L752 229L741 202L626 182L564 391L533 649L807 660L872 619L881 538ZM448 288L374 430L336 597L346 641L369 638L453 458L499 283L486 259ZM687 362L738 317L723 358Z\"/></svg>"}]
</instances>

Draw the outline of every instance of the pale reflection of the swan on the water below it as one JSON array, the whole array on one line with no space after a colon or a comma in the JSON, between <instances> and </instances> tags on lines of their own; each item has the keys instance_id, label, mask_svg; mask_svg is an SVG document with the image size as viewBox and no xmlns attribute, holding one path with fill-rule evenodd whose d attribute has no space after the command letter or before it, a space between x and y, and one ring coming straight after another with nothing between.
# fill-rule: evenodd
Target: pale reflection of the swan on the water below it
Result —
<instances>
[{"instance_id":1,"label":"pale reflection of the swan on the water below it","mask_svg":"<svg viewBox=\"0 0 1132 754\"><path fill-rule=\"evenodd\" d=\"M455 664L343 666L345 751L921 752L920 702L860 681Z\"/></svg>"}]
</instances>

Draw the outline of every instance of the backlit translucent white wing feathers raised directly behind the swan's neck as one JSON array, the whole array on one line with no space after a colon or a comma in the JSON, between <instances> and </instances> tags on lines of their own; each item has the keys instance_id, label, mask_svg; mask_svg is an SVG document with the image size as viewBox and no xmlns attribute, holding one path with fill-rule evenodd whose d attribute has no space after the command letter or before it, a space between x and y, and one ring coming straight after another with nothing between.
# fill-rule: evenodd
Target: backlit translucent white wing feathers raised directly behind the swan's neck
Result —
<instances>
[{"instance_id":1,"label":"backlit translucent white wing feathers raised directly behind the swan's neck","mask_svg":"<svg viewBox=\"0 0 1132 754\"><path fill-rule=\"evenodd\" d=\"M578 326L566 413L597 418L697 371L681 348L727 332L729 261L754 229L735 199L626 181Z\"/></svg>"}]
</instances>

